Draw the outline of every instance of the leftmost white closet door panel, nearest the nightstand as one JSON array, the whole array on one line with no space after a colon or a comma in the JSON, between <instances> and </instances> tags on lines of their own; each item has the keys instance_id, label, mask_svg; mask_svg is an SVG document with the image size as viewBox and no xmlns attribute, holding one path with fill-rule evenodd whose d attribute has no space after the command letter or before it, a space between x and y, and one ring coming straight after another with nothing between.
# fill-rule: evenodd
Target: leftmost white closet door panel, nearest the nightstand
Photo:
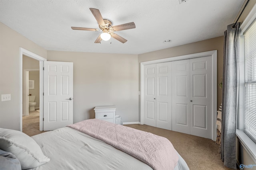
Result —
<instances>
[{"instance_id":1,"label":"leftmost white closet door panel, nearest the nightstand","mask_svg":"<svg viewBox=\"0 0 256 170\"><path fill-rule=\"evenodd\" d=\"M144 124L156 127L156 64L144 66Z\"/></svg>"}]
</instances>

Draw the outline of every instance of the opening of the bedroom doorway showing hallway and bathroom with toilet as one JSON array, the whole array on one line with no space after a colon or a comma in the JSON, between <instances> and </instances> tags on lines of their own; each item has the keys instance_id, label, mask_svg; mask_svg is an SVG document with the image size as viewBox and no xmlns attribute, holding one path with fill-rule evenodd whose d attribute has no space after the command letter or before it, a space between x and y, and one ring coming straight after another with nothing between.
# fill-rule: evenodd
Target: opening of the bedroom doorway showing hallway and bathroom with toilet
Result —
<instances>
[{"instance_id":1,"label":"opening of the bedroom doorway showing hallway and bathroom with toilet","mask_svg":"<svg viewBox=\"0 0 256 170\"><path fill-rule=\"evenodd\" d=\"M22 132L29 136L40 131L40 69L39 61L22 56Z\"/></svg>"}]
</instances>

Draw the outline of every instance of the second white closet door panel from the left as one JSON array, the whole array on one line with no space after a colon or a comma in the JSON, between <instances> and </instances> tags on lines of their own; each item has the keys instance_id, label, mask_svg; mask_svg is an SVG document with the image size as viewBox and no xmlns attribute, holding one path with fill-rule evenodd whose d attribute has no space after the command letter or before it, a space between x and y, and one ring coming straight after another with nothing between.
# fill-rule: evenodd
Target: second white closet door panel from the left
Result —
<instances>
[{"instance_id":1,"label":"second white closet door panel from the left","mask_svg":"<svg viewBox=\"0 0 256 170\"><path fill-rule=\"evenodd\" d=\"M172 130L171 62L156 64L156 127Z\"/></svg>"}]
</instances>

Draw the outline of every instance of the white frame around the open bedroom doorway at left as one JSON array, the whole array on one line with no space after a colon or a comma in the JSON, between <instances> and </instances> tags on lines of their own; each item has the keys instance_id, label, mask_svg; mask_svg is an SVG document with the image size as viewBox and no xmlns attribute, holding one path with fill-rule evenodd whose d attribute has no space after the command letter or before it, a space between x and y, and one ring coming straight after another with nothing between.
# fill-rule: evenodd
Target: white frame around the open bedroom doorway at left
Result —
<instances>
[{"instance_id":1,"label":"white frame around the open bedroom doorway at left","mask_svg":"<svg viewBox=\"0 0 256 170\"><path fill-rule=\"evenodd\" d=\"M43 130L43 123L42 123L42 120L43 120L43 113L44 113L44 110L43 110L43 106L44 106L44 100L43 100L43 95L42 92L43 92L43 89L44 89L44 76L43 76L43 72L42 72L42 69L43 69L43 66L44 66L44 61L46 61L45 58L39 56L39 55L36 55L35 53L32 53L22 47L20 47L20 131L22 131L22 112L23 112L23 103L22 103L22 78L23 78L23 68L22 68L22 57L23 55L26 55L27 57L30 57L32 59L35 59L35 60L38 60L39 61L39 74L40 74L40 90L39 90L39 93L40 93L40 104L39 104L39 107L40 107L40 114L39 114L39 130L42 131Z\"/></svg>"}]
</instances>

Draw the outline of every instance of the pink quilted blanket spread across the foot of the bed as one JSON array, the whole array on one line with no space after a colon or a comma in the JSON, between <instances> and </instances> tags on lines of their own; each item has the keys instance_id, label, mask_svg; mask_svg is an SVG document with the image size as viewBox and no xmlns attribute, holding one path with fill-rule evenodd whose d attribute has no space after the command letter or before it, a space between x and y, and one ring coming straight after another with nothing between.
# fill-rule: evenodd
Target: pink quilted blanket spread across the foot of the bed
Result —
<instances>
[{"instance_id":1,"label":"pink quilted blanket spread across the foot of the bed","mask_svg":"<svg viewBox=\"0 0 256 170\"><path fill-rule=\"evenodd\" d=\"M178 155L164 137L99 119L88 119L68 125L108 145L134 156L154 170L173 170Z\"/></svg>"}]
</instances>

